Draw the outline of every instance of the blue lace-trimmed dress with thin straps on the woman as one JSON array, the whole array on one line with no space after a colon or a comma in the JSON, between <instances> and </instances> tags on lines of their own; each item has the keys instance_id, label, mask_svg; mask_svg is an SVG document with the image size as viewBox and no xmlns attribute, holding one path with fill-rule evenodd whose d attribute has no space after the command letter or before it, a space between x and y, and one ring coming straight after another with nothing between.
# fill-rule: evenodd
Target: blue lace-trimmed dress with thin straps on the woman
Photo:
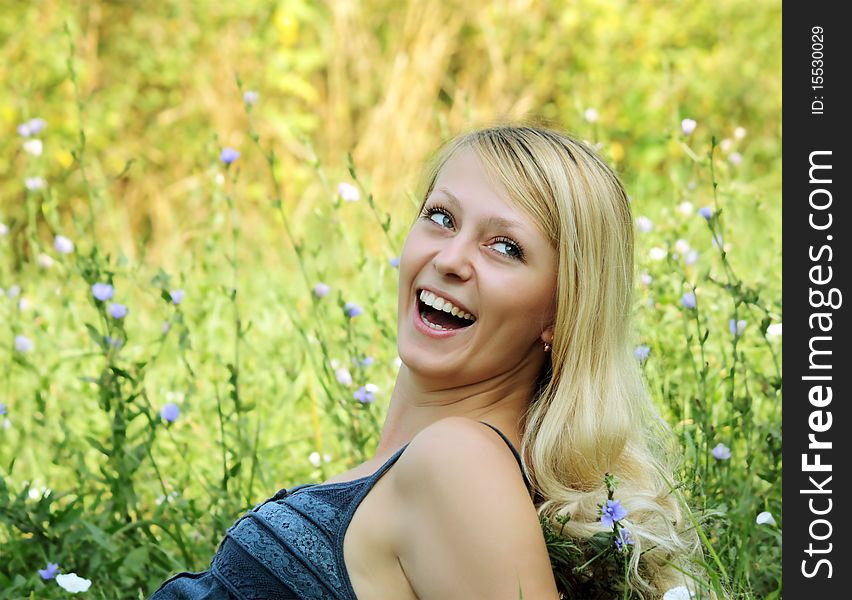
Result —
<instances>
[{"instance_id":1,"label":"blue lace-trimmed dress with thin straps on the woman","mask_svg":"<svg viewBox=\"0 0 852 600\"><path fill-rule=\"evenodd\" d=\"M480 423L512 449L529 489L518 451ZM358 600L343 538L361 500L407 447L367 477L279 491L228 529L208 570L178 573L149 600Z\"/></svg>"}]
</instances>

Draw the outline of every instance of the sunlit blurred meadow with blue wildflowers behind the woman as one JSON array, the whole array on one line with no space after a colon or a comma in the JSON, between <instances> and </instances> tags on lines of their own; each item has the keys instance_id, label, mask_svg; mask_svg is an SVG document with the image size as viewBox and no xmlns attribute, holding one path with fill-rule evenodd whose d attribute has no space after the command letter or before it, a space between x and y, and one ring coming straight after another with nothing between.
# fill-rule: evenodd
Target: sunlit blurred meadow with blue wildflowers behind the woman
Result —
<instances>
[{"instance_id":1,"label":"sunlit blurred meadow with blue wildflowers behind the woman","mask_svg":"<svg viewBox=\"0 0 852 600\"><path fill-rule=\"evenodd\" d=\"M708 564L780 593L780 3L0 0L0 42L0 597L145 597L372 456L417 177L506 119L621 175Z\"/></svg>"}]
</instances>

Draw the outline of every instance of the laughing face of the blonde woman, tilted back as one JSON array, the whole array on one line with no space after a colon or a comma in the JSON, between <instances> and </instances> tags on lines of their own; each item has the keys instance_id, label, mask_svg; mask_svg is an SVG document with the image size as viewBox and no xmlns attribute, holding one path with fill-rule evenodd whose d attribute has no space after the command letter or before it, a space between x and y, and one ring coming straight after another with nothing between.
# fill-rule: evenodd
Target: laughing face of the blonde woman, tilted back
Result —
<instances>
[{"instance_id":1,"label":"laughing face of the blonde woman, tilted back","mask_svg":"<svg viewBox=\"0 0 852 600\"><path fill-rule=\"evenodd\" d=\"M470 149L445 163L423 207L430 210L412 226L400 257L402 361L448 386L511 372L525 362L540 365L542 339L552 341L556 250L502 186L491 186ZM474 324L430 334L420 319L423 288L463 305Z\"/></svg>"}]
</instances>

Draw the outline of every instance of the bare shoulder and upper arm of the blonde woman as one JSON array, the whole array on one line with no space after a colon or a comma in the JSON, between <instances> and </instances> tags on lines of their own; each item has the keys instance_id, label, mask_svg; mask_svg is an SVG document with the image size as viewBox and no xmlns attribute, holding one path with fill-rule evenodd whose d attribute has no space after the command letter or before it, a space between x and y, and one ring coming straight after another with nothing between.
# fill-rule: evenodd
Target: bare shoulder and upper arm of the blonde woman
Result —
<instances>
[{"instance_id":1,"label":"bare shoulder and upper arm of the blonde woman","mask_svg":"<svg viewBox=\"0 0 852 600\"><path fill-rule=\"evenodd\" d=\"M557 598L535 507L495 431L442 419L395 468L393 550L421 600Z\"/></svg>"}]
</instances>

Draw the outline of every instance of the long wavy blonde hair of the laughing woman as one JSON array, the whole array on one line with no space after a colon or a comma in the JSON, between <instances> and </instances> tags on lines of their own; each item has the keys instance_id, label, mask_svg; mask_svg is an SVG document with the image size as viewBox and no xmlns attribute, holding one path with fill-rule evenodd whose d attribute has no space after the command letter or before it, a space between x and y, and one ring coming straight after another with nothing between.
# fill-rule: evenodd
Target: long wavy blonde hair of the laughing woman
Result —
<instances>
[{"instance_id":1,"label":"long wavy blonde hair of the laughing woman","mask_svg":"<svg viewBox=\"0 0 852 600\"><path fill-rule=\"evenodd\" d=\"M439 149L420 183L421 210L441 168L462 148L475 151L492 183L539 224L559 255L553 348L523 416L521 455L541 500L539 517L570 538L605 531L600 505L611 473L634 540L630 589L658 598L677 585L692 587L679 569L691 572L700 542L667 482L674 479L673 436L630 347L633 219L621 182L586 143L501 124ZM570 515L564 529L557 515Z\"/></svg>"}]
</instances>

